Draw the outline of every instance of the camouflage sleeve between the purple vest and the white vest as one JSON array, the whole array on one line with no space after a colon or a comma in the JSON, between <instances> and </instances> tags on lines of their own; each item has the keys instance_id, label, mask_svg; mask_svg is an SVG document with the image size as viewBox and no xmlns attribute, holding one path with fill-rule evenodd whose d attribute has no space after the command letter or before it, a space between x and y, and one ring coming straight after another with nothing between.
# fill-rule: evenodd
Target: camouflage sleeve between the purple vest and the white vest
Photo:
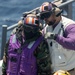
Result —
<instances>
[{"instance_id":1,"label":"camouflage sleeve between the purple vest and the white vest","mask_svg":"<svg viewBox=\"0 0 75 75\"><path fill-rule=\"evenodd\" d=\"M51 74L51 59L48 44L43 40L40 45L37 47L34 55L37 59L38 74Z\"/></svg>"}]
</instances>

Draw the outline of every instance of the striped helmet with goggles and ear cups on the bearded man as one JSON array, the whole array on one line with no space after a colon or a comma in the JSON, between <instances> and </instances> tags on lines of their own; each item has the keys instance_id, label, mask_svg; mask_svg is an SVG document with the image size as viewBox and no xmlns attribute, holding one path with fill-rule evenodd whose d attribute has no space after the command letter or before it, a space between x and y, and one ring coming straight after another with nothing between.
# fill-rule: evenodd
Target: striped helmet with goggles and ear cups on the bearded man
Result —
<instances>
[{"instance_id":1,"label":"striped helmet with goggles and ear cups on the bearded man","mask_svg":"<svg viewBox=\"0 0 75 75\"><path fill-rule=\"evenodd\" d=\"M40 6L40 18L43 20L44 18L49 18L52 13L55 13L56 17L58 17L62 13L62 9L58 8L55 4L51 2L44 2Z\"/></svg>"}]
</instances>

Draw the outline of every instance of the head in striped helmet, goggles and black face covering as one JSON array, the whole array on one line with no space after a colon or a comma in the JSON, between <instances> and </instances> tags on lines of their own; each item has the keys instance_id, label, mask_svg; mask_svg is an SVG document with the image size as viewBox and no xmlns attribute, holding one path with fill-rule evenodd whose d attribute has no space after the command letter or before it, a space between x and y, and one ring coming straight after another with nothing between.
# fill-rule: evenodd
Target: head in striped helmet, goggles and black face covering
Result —
<instances>
[{"instance_id":1,"label":"head in striped helmet, goggles and black face covering","mask_svg":"<svg viewBox=\"0 0 75 75\"><path fill-rule=\"evenodd\" d=\"M40 36L40 22L36 15L28 14L23 18L22 23L26 40Z\"/></svg>"}]
</instances>

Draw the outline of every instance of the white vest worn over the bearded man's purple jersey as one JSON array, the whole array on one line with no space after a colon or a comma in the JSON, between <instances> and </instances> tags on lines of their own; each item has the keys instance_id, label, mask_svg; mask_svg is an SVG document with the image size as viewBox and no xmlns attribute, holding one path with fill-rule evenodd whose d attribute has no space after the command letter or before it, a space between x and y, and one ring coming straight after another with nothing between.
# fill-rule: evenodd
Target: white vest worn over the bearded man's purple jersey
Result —
<instances>
[{"instance_id":1,"label":"white vest worn over the bearded man's purple jersey","mask_svg":"<svg viewBox=\"0 0 75 75\"><path fill-rule=\"evenodd\" d=\"M51 26L47 26L45 28L45 33L52 32L59 34L60 36L64 36L65 29L71 24L75 24L75 22L62 16L62 20L55 27L55 29L52 30ZM75 50L66 49L52 39L47 39L47 42L51 54L51 68L53 72L60 69L71 70L75 67Z\"/></svg>"}]
</instances>

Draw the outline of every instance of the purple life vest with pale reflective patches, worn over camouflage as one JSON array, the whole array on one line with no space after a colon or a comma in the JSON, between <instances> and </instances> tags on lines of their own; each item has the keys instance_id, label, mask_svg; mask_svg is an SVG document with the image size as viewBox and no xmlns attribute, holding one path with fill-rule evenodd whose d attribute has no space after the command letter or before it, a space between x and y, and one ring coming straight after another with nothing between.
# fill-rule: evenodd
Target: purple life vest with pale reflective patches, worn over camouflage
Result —
<instances>
[{"instance_id":1,"label":"purple life vest with pale reflective patches, worn over camouflage","mask_svg":"<svg viewBox=\"0 0 75 75\"><path fill-rule=\"evenodd\" d=\"M39 37L36 41L32 41L23 47L16 39L16 35L12 35L8 47L8 64L7 74L9 75L37 75L36 57L34 50L43 40Z\"/></svg>"}]
</instances>

